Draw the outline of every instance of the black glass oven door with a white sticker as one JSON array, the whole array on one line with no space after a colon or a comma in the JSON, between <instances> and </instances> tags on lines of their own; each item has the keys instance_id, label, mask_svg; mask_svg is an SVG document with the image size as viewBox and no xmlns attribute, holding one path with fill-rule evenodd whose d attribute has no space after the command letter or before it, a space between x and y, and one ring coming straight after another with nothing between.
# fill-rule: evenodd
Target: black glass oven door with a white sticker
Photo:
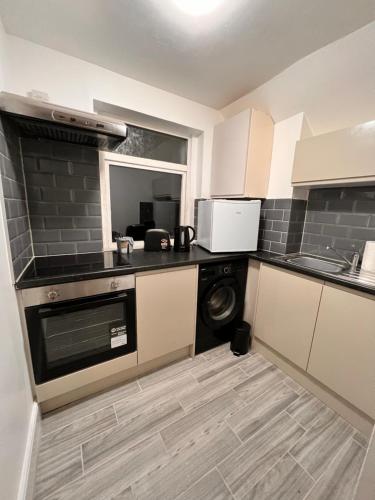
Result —
<instances>
[{"instance_id":1,"label":"black glass oven door with a white sticker","mask_svg":"<svg viewBox=\"0 0 375 500\"><path fill-rule=\"evenodd\" d=\"M37 384L136 350L134 290L26 308Z\"/></svg>"}]
</instances>

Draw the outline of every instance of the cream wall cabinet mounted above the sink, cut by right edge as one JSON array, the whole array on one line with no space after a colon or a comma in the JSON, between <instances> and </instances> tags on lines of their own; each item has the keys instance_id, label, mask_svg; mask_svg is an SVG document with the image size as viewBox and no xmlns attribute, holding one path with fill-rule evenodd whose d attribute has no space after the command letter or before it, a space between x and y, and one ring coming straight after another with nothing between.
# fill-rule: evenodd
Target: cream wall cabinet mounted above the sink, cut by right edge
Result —
<instances>
[{"instance_id":1,"label":"cream wall cabinet mounted above the sink, cut by right edge","mask_svg":"<svg viewBox=\"0 0 375 500\"><path fill-rule=\"evenodd\" d=\"M373 184L375 122L297 142L293 186Z\"/></svg>"}]
</instances>

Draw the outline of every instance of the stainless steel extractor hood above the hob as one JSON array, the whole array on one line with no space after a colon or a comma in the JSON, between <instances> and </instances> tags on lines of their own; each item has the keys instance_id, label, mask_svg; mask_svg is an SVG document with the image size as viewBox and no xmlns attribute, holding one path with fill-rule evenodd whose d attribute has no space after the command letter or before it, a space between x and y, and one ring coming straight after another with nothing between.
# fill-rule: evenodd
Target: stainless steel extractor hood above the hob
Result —
<instances>
[{"instance_id":1,"label":"stainless steel extractor hood above the hob","mask_svg":"<svg viewBox=\"0 0 375 500\"><path fill-rule=\"evenodd\" d=\"M127 133L126 124L120 120L7 92L0 92L0 111L10 115L26 137L115 150Z\"/></svg>"}]
</instances>

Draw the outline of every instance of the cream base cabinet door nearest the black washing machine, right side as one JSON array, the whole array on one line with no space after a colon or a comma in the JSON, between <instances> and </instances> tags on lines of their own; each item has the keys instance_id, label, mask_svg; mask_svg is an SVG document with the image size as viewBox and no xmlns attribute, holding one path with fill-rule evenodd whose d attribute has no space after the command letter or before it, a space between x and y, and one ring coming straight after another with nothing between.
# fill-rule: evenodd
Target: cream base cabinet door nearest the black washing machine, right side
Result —
<instances>
[{"instance_id":1,"label":"cream base cabinet door nearest the black washing machine, right side","mask_svg":"<svg viewBox=\"0 0 375 500\"><path fill-rule=\"evenodd\" d=\"M254 334L307 368L323 282L261 265Z\"/></svg>"}]
</instances>

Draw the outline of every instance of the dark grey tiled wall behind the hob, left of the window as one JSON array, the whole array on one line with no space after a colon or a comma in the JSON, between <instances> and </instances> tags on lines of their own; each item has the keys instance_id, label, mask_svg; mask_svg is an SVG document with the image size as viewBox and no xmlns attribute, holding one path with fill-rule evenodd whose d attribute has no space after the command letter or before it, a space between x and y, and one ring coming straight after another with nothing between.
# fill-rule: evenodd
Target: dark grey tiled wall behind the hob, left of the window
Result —
<instances>
[{"instance_id":1,"label":"dark grey tiled wall behind the hob, left of the window","mask_svg":"<svg viewBox=\"0 0 375 500\"><path fill-rule=\"evenodd\" d=\"M101 251L97 151L22 139L22 153L35 255Z\"/></svg>"}]
</instances>

